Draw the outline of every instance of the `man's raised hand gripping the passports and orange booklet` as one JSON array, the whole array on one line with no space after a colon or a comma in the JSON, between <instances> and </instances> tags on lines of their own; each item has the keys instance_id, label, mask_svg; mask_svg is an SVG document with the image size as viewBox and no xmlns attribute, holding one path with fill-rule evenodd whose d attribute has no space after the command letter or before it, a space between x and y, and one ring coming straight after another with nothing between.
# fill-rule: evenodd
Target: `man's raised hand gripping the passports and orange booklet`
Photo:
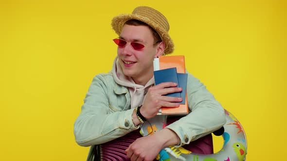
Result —
<instances>
[{"instance_id":1,"label":"man's raised hand gripping the passports and orange booklet","mask_svg":"<svg viewBox=\"0 0 287 161\"><path fill-rule=\"evenodd\" d=\"M177 83L164 82L156 86L150 87L141 107L141 113L146 119L150 119L157 115L161 107L179 107L181 97L163 96L170 93L181 92L180 87L176 87ZM170 87L170 88L169 88Z\"/></svg>"}]
</instances>

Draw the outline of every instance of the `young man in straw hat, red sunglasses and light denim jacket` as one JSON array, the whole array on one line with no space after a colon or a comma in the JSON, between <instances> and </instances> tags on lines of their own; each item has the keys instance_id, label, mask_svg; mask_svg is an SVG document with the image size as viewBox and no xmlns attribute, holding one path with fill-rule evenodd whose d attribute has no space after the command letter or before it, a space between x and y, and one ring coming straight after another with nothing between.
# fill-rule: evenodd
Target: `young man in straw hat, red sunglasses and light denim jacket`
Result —
<instances>
[{"instance_id":1,"label":"young man in straw hat, red sunglasses and light denim jacket","mask_svg":"<svg viewBox=\"0 0 287 161\"><path fill-rule=\"evenodd\" d=\"M94 77L74 124L76 142L82 146L122 137L139 129L143 120L156 117L161 107L178 107L182 100L164 96L180 92L177 84L154 85L154 58L172 53L174 47L167 19L157 10L141 6L130 15L114 17L112 27L119 34L114 39L118 56L108 74ZM189 73L187 96L192 113L153 135L136 139L125 150L127 158L153 161L164 147L189 144L225 124L221 105Z\"/></svg>"}]
</instances>

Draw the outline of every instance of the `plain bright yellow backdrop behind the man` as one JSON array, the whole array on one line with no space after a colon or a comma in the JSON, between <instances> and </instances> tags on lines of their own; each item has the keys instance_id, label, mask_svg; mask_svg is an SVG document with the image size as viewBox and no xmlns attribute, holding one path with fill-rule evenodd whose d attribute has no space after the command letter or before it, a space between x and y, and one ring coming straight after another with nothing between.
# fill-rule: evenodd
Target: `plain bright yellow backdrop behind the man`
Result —
<instances>
[{"instance_id":1,"label":"plain bright yellow backdrop behind the man","mask_svg":"<svg viewBox=\"0 0 287 161\"><path fill-rule=\"evenodd\" d=\"M240 121L247 161L286 158L285 0L0 0L0 160L86 159L73 122L116 56L112 17L139 5L167 17L174 54Z\"/></svg>"}]
</instances>

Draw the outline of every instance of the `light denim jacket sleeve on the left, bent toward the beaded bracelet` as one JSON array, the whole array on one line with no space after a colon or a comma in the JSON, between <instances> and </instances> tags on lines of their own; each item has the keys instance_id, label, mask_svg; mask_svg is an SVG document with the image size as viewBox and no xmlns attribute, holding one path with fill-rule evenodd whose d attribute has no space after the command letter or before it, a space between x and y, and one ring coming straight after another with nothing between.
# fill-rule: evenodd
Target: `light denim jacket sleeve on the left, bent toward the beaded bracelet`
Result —
<instances>
[{"instance_id":1,"label":"light denim jacket sleeve on the left, bent toward the beaded bracelet","mask_svg":"<svg viewBox=\"0 0 287 161\"><path fill-rule=\"evenodd\" d=\"M74 123L74 136L81 146L106 143L138 129L132 122L134 109L112 111L109 104L110 85L105 75L94 77L84 99L81 113Z\"/></svg>"}]
</instances>

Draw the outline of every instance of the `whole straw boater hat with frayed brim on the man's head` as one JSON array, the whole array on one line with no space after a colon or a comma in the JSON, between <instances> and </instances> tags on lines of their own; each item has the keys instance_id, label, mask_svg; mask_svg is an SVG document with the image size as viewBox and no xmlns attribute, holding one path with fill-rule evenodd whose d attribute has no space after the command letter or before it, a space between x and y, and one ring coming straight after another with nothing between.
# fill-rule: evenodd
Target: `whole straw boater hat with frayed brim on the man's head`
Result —
<instances>
[{"instance_id":1,"label":"whole straw boater hat with frayed brim on the man's head","mask_svg":"<svg viewBox=\"0 0 287 161\"><path fill-rule=\"evenodd\" d=\"M168 21L159 11L150 7L140 6L135 8L131 14L115 16L112 19L111 26L113 30L120 35L125 22L130 19L140 20L152 27L159 33L161 40L165 43L164 53L170 54L173 52L174 44L168 34Z\"/></svg>"}]
</instances>

